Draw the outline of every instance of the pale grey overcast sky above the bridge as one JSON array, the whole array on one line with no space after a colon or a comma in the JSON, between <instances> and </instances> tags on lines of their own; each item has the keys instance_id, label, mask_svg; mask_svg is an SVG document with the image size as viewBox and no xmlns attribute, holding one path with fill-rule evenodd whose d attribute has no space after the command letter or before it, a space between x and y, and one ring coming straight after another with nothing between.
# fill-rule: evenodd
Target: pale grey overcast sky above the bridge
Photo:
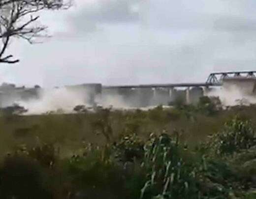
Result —
<instances>
[{"instance_id":1,"label":"pale grey overcast sky above the bridge","mask_svg":"<svg viewBox=\"0 0 256 199\"><path fill-rule=\"evenodd\" d=\"M43 13L53 36L12 41L0 82L45 87L203 82L256 70L256 0L76 0Z\"/></svg>"}]
</instances>

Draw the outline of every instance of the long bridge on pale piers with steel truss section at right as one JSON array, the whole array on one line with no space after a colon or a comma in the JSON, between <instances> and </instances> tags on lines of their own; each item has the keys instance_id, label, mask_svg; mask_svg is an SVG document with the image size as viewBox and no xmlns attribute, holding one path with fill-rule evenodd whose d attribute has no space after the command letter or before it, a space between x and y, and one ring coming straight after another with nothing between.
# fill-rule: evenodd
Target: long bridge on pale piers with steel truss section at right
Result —
<instances>
[{"instance_id":1,"label":"long bridge on pale piers with steel truss section at right","mask_svg":"<svg viewBox=\"0 0 256 199\"><path fill-rule=\"evenodd\" d=\"M170 101L175 101L178 98L182 98L186 103L190 104L197 103L199 98L211 92L214 89L213 87L222 86L224 79L236 78L242 81L244 79L256 78L256 71L211 73L206 82L203 83L103 85L102 95L122 96L129 102L140 100L141 104L144 104L143 106L149 104L168 104ZM152 100L149 102L149 99L154 99L154 102L152 103Z\"/></svg>"}]
</instances>

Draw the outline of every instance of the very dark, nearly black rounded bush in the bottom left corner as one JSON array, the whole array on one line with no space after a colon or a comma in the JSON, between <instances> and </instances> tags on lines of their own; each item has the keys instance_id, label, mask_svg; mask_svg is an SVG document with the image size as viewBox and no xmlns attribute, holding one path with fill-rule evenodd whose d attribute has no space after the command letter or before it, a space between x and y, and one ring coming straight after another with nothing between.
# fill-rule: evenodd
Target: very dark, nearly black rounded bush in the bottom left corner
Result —
<instances>
[{"instance_id":1,"label":"very dark, nearly black rounded bush in the bottom left corner","mask_svg":"<svg viewBox=\"0 0 256 199\"><path fill-rule=\"evenodd\" d=\"M9 155L0 173L1 199L52 199L42 167L29 157Z\"/></svg>"}]
</instances>

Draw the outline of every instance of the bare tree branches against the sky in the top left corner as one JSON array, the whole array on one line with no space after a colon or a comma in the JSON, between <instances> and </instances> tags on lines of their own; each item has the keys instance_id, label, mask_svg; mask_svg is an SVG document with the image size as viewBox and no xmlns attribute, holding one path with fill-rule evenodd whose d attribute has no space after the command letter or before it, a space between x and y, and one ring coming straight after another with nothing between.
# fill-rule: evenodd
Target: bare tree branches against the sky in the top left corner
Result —
<instances>
[{"instance_id":1,"label":"bare tree branches against the sky in the top left corner","mask_svg":"<svg viewBox=\"0 0 256 199\"><path fill-rule=\"evenodd\" d=\"M0 0L0 63L16 63L19 59L5 55L13 37L34 43L36 37L47 36L46 26L38 25L42 10L67 9L71 0Z\"/></svg>"}]
</instances>

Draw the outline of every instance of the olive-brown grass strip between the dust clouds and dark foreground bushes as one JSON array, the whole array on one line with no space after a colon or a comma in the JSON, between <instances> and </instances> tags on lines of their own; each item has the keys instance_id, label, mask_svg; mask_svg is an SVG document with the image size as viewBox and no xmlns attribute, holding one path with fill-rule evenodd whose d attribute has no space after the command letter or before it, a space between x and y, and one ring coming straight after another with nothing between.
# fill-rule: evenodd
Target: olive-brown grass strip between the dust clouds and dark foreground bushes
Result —
<instances>
[{"instance_id":1,"label":"olive-brown grass strip between the dust clouds and dark foreground bushes","mask_svg":"<svg viewBox=\"0 0 256 199\"><path fill-rule=\"evenodd\" d=\"M241 115L256 122L256 107L235 107L208 115L191 107L183 109L162 109L149 111L100 110L85 114L4 115L0 117L0 146L3 155L17 144L37 142L59 144L70 151L80 147L82 142L104 145L107 141L102 126L110 128L111 141L118 141L123 135L135 133L148 138L151 133L160 135L163 131L171 135L180 132L190 145L203 142L208 135L220 131L226 121L234 115ZM253 122L253 123L255 123Z\"/></svg>"}]
</instances>

